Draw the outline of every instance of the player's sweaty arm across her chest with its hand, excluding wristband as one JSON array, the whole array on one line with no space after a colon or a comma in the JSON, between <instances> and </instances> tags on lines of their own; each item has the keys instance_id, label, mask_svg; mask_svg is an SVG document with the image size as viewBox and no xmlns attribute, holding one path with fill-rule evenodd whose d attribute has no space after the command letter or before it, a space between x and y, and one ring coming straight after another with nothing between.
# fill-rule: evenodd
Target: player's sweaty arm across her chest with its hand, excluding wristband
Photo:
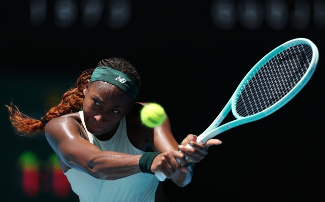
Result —
<instances>
[{"instance_id":1,"label":"player's sweaty arm across her chest with its hand, excluding wristband","mask_svg":"<svg viewBox=\"0 0 325 202\"><path fill-rule=\"evenodd\" d=\"M78 122L71 117L58 117L49 121L45 127L46 138L64 163L73 169L87 173L102 180L115 180L140 173L139 160L141 155L130 155L113 151L102 151L80 136ZM173 163L175 158L186 162L183 154L167 151L156 156L157 170L164 173L179 170L180 166ZM166 164L166 158L168 163Z\"/></svg>"}]
</instances>

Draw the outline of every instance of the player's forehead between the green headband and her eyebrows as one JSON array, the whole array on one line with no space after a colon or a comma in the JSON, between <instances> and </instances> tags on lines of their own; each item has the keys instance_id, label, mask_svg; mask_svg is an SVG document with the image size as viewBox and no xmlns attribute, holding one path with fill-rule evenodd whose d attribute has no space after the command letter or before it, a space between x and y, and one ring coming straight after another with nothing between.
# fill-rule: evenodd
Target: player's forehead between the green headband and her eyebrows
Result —
<instances>
[{"instance_id":1,"label":"player's forehead between the green headband and her eyebrows","mask_svg":"<svg viewBox=\"0 0 325 202\"><path fill-rule=\"evenodd\" d=\"M99 96L105 103L118 103L124 105L131 102L131 99L125 92L104 81L92 82L88 93Z\"/></svg>"}]
</instances>

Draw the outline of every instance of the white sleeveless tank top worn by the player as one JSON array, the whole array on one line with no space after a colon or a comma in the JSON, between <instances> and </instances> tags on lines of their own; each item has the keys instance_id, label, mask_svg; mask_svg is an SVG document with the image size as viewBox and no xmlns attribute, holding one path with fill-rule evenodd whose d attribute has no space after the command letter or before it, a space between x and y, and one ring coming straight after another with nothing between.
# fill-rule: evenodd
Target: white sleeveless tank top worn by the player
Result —
<instances>
[{"instance_id":1,"label":"white sleeveless tank top worn by the player","mask_svg":"<svg viewBox=\"0 0 325 202\"><path fill-rule=\"evenodd\" d=\"M108 141L100 141L88 132L83 111L79 112L82 124L88 134L89 142L102 151L115 151L132 155L144 154L129 142L126 133L125 116L120 121L114 136ZM118 180L100 180L86 173L69 169L64 173L72 187L78 194L80 201L154 201L158 186L155 175L138 173Z\"/></svg>"}]
</instances>

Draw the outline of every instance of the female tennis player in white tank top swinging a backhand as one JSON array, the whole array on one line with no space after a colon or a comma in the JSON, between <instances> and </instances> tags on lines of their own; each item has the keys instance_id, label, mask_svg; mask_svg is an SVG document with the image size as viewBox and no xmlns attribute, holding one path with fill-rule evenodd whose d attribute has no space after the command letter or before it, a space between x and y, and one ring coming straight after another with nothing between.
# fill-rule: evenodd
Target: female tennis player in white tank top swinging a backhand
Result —
<instances>
[{"instance_id":1,"label":"female tennis player in white tank top swinging a backhand","mask_svg":"<svg viewBox=\"0 0 325 202\"><path fill-rule=\"evenodd\" d=\"M178 145L168 118L161 126L144 126L140 110L146 104L134 102L140 85L131 63L110 58L84 71L77 86L64 93L61 103L41 120L22 114L13 104L7 107L12 125L24 136L45 129L80 201L167 201L152 174L162 172L185 186L194 163L204 158L209 146L221 142L199 145L196 136L189 134ZM186 148L187 144L193 148Z\"/></svg>"}]
</instances>

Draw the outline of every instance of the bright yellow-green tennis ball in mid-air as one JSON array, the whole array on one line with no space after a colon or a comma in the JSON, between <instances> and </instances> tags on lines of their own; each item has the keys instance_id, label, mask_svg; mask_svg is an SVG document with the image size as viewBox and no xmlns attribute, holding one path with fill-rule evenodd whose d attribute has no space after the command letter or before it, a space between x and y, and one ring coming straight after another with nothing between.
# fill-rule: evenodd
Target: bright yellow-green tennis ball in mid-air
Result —
<instances>
[{"instance_id":1,"label":"bright yellow-green tennis ball in mid-air","mask_svg":"<svg viewBox=\"0 0 325 202\"><path fill-rule=\"evenodd\" d=\"M164 108L160 105L150 103L142 108L140 117L143 124L153 128L164 123L166 113Z\"/></svg>"}]
</instances>

